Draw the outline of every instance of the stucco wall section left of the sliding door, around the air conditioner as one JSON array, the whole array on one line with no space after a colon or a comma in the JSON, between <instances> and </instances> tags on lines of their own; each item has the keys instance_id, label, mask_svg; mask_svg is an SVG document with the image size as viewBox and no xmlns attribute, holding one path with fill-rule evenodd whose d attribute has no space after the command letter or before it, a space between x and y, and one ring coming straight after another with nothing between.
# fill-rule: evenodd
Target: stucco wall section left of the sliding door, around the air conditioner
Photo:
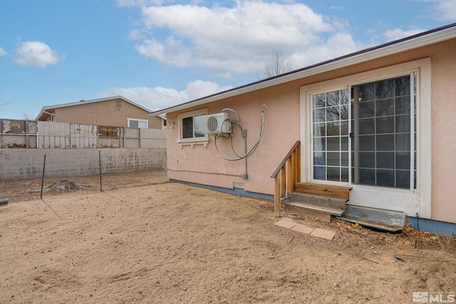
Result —
<instances>
[{"instance_id":1,"label":"stucco wall section left of the sliding door, around the air conditioner","mask_svg":"<svg viewBox=\"0 0 456 304\"><path fill-rule=\"evenodd\" d=\"M245 162L244 160L230 162L219 157L214 148L214 137L211 137L207 147L195 145L195 147L183 146L179 148L176 143L179 138L177 127L167 130L168 167L178 170L213 172L214 174L169 170L168 177L227 188L232 188L233 182L242 182L247 191L273 194L274 180L270 176L280 162L276 162L276 159L282 159L290 147L294 145L294 142L299 140L299 103L296 103L296 100L299 100L299 88L284 86L280 90L268 88L229 98L224 103L217 102L209 105L209 114L220 112L224 108L232 108L239 113L242 120L239 125L247 130L248 149L257 142L261 125L261 106L266 105L267 108L264 110L266 119L264 136L252 157L247 159L248 179L219 175L241 175L245 172ZM185 112L190 110L192 109L185 110ZM227 112L232 115L233 119L236 119L237 116L234 113ZM168 114L167 120L177 122L177 114ZM284 131L288 132L286 136L282 135ZM234 148L238 154L244 154L244 138L240 135L239 127L235 128L234 132ZM231 152L229 140L217 140L217 147L226 157L235 157Z\"/></svg>"}]
</instances>

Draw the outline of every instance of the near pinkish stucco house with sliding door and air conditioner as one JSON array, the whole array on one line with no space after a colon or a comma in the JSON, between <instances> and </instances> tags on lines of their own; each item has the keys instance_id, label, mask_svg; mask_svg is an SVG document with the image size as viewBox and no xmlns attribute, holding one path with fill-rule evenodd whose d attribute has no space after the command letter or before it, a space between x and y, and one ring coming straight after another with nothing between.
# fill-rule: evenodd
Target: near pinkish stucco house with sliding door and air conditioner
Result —
<instances>
[{"instance_id":1,"label":"near pinkish stucco house with sliding door and air conditioner","mask_svg":"<svg viewBox=\"0 0 456 304\"><path fill-rule=\"evenodd\" d=\"M167 113L168 177L277 196L271 175L300 142L285 179L456 223L455 50L453 23L152 112ZM216 113L233 136L208 135Z\"/></svg>"}]
</instances>

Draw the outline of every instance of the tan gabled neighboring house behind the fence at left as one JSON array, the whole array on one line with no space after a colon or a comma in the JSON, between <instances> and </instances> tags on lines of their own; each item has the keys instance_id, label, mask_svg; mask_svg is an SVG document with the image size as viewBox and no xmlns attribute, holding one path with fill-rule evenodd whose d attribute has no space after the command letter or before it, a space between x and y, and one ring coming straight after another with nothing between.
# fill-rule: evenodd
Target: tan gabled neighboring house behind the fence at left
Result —
<instances>
[{"instance_id":1,"label":"tan gabled neighboring house behind the fence at left","mask_svg":"<svg viewBox=\"0 0 456 304\"><path fill-rule=\"evenodd\" d=\"M35 120L150 129L163 129L166 126L164 117L148 116L149 113L150 110L127 98L113 96L48 105L41 109Z\"/></svg>"}]
</instances>

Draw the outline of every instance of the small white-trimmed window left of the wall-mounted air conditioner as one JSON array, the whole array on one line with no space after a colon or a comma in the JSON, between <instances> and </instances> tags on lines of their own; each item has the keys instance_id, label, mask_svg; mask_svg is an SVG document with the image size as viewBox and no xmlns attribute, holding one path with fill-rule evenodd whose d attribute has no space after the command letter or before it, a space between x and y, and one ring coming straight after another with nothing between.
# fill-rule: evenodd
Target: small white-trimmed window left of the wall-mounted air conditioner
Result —
<instances>
[{"instance_id":1,"label":"small white-trimmed window left of the wall-mounted air conditioner","mask_svg":"<svg viewBox=\"0 0 456 304\"><path fill-rule=\"evenodd\" d=\"M206 134L207 108L182 113L177 116L179 123L179 140L182 145L204 145L207 146L209 137Z\"/></svg>"}]
</instances>

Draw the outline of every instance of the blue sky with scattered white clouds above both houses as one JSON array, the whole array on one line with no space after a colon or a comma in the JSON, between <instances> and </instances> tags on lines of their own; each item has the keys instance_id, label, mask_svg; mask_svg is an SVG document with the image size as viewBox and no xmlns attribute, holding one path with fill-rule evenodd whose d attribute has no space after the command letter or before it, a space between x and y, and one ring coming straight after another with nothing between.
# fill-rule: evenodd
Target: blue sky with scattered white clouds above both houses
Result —
<instances>
[{"instance_id":1,"label":"blue sky with scattered white clouds above both houses","mask_svg":"<svg viewBox=\"0 0 456 304\"><path fill-rule=\"evenodd\" d=\"M456 22L456 0L10 0L0 118L114 95L160 110Z\"/></svg>"}]
</instances>

